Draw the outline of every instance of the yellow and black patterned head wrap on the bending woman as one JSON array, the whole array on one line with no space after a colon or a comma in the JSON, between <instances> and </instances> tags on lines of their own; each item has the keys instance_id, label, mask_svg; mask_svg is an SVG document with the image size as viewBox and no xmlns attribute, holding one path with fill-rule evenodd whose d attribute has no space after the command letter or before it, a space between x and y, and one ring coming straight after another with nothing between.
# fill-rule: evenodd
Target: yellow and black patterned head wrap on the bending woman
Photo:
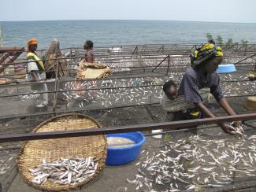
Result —
<instances>
[{"instance_id":1,"label":"yellow and black patterned head wrap on the bending woman","mask_svg":"<svg viewBox=\"0 0 256 192\"><path fill-rule=\"evenodd\" d=\"M193 67L199 65L212 56L222 57L223 52L220 46L215 46L212 43L207 43L204 46L196 49L195 51L191 51L191 65Z\"/></svg>"}]
</instances>

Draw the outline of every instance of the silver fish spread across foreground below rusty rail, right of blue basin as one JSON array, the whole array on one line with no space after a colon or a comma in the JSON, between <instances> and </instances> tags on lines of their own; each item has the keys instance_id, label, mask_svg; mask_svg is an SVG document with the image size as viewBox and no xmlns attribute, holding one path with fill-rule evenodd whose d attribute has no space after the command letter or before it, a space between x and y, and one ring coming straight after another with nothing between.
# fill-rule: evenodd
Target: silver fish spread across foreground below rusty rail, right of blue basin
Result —
<instances>
[{"instance_id":1,"label":"silver fish spread across foreground below rusty rail, right of blue basin","mask_svg":"<svg viewBox=\"0 0 256 192\"><path fill-rule=\"evenodd\" d=\"M164 147L159 153L141 152L138 174L127 179L136 190L191 191L256 176L256 135L236 139L193 135Z\"/></svg>"}]
</instances>

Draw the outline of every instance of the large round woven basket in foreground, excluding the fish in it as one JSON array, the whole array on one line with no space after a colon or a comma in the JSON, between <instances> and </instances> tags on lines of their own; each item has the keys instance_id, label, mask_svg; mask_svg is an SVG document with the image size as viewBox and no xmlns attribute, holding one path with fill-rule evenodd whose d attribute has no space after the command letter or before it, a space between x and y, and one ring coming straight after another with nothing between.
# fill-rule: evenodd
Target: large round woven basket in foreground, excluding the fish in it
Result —
<instances>
[{"instance_id":1,"label":"large round woven basket in foreground, excluding the fish in it","mask_svg":"<svg viewBox=\"0 0 256 192\"><path fill-rule=\"evenodd\" d=\"M70 113L55 116L50 120L44 121L42 124L35 127L33 132L72 131L95 127L101 127L101 125L91 117L83 114ZM78 183L73 186L55 184L50 181L47 181L43 185L32 183L31 179L33 176L28 171L29 168L34 168L36 165L41 164L43 159L46 161L55 161L60 157L97 157L100 158L100 160L98 161L98 168L95 175L92 175L91 178L83 181L83 183ZM24 182L36 189L47 191L76 189L94 179L102 168L104 168L105 163L105 135L28 141L24 143L17 157L18 169Z\"/></svg>"}]
</instances>

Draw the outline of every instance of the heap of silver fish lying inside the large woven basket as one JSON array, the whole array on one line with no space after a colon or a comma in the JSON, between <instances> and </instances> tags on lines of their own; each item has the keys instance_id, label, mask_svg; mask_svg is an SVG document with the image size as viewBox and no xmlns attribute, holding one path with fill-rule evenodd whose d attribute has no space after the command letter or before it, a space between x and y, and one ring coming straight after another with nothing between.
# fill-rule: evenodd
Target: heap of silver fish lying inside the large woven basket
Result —
<instances>
[{"instance_id":1,"label":"heap of silver fish lying inside the large woven basket","mask_svg":"<svg viewBox=\"0 0 256 192\"><path fill-rule=\"evenodd\" d=\"M32 183L39 185L47 180L61 185L76 185L95 174L98 166L96 161L93 157L60 158L50 162L43 160L42 164L30 168L29 172L35 176Z\"/></svg>"}]
</instances>

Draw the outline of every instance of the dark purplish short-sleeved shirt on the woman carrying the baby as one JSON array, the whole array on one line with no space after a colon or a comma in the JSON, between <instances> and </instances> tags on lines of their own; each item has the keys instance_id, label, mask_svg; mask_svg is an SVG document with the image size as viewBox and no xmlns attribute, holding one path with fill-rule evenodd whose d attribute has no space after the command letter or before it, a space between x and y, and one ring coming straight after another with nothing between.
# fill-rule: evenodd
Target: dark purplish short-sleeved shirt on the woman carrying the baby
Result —
<instances>
[{"instance_id":1,"label":"dark purplish short-sleeved shirt on the woman carrying the baby","mask_svg":"<svg viewBox=\"0 0 256 192\"><path fill-rule=\"evenodd\" d=\"M217 101L224 97L217 72L203 73L200 68L187 68L180 83L179 94L184 94L186 102L202 102L199 90L208 87Z\"/></svg>"}]
</instances>

